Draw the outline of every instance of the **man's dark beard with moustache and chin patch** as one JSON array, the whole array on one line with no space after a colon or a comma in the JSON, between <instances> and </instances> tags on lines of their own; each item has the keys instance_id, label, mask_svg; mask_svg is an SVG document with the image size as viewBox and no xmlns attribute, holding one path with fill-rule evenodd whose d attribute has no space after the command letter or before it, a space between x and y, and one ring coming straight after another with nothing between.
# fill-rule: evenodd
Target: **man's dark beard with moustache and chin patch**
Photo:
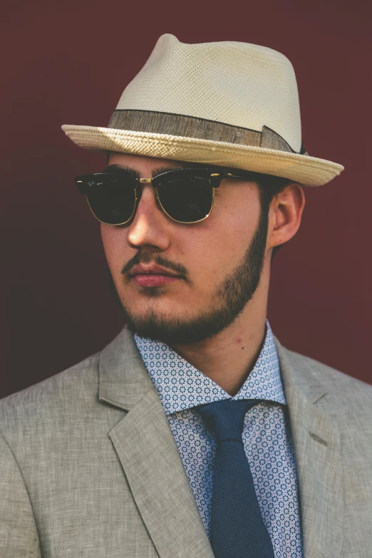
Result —
<instances>
[{"instance_id":1,"label":"man's dark beard with moustache and chin patch","mask_svg":"<svg viewBox=\"0 0 372 558\"><path fill-rule=\"evenodd\" d=\"M132 314L120 299L110 274L110 290L118 303L120 314L128 329L139 337L161 341L169 346L212 339L227 329L242 313L259 286L266 254L267 229L268 213L261 210L257 229L242 261L217 285L212 294L209 309L200 311L197 316L192 318L159 316L152 306L149 306L148 310L140 316ZM150 260L158 265L166 266L167 264L167 261L160 255L149 257L143 254L141 257L138 252L133 262L128 262L130 265L127 264L124 269L140 262L150 262ZM173 266L175 271L177 271L176 266ZM161 287L143 287L142 291L148 296L148 299L156 299L161 296L162 292Z\"/></svg>"}]
</instances>

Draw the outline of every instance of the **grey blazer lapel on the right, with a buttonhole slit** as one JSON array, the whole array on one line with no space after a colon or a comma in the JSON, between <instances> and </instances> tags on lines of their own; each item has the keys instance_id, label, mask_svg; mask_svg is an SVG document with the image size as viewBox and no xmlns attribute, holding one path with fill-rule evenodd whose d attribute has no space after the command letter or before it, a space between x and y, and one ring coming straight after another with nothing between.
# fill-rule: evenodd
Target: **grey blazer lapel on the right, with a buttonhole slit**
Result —
<instances>
[{"instance_id":1,"label":"grey blazer lapel on the right, with a buttonhole slit","mask_svg":"<svg viewBox=\"0 0 372 558\"><path fill-rule=\"evenodd\" d=\"M329 398L309 361L276 340L294 439L301 500L304 558L339 558L343 536L343 485L339 427L317 408Z\"/></svg>"}]
</instances>

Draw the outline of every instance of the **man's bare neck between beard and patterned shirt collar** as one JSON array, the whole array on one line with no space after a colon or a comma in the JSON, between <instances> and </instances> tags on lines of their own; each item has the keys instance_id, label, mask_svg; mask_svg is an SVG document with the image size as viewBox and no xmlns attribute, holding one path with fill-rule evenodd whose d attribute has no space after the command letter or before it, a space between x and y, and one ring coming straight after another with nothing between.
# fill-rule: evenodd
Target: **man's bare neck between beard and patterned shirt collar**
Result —
<instances>
[{"instance_id":1,"label":"man's bare neck between beard and patterned shirt collar","mask_svg":"<svg viewBox=\"0 0 372 558\"><path fill-rule=\"evenodd\" d=\"M193 345L172 346L230 396L236 395L246 381L265 339L266 309L265 313L259 313L260 316L254 316L256 319L252 319L252 314L247 319L248 313L249 308L234 324L212 339Z\"/></svg>"}]
</instances>

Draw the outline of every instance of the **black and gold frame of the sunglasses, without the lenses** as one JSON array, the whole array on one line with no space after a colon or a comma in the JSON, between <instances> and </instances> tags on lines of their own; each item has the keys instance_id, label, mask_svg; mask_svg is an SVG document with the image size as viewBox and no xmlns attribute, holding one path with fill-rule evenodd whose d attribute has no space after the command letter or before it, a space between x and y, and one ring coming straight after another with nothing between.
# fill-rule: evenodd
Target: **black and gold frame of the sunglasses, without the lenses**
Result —
<instances>
[{"instance_id":1,"label":"black and gold frame of the sunglasses, without the lenses","mask_svg":"<svg viewBox=\"0 0 372 558\"><path fill-rule=\"evenodd\" d=\"M197 219L196 221L179 221L178 219L175 219L174 217L169 215L169 213L163 207L162 202L160 201L159 192L158 192L157 189L159 187L161 187L161 182L162 182L162 180L164 180L164 177L172 177L172 175L174 176L175 173L180 174L180 172L182 172L182 174L185 174L185 175L192 174L193 177L196 177L196 178L198 178L198 177L205 178L206 177L205 173L207 173L207 177L210 179L210 187L212 187L212 204L211 204L210 212L208 212L207 215L205 215L205 217L202 217L202 219ZM128 174L130 174L130 173L128 172ZM257 173L254 173L254 172L251 172L251 171L236 170L236 169L220 169L220 168L213 169L213 168L207 168L207 167L205 167L205 168L189 168L189 167L186 167L186 168L180 168L180 169L174 169L174 170L167 170L167 172L162 172L160 175L156 175L153 178L136 178L133 175L130 175L130 177L133 179L133 189L134 189L134 192L135 192L135 203L134 203L134 207L133 207L133 212L130 215L129 219L127 219L126 221L124 221L122 223L106 223L104 221L101 221L101 219L99 219L97 217L97 215L95 215L95 213L93 212L91 204L89 203L89 200L88 200L88 195L87 195L87 189L88 189L88 187L91 186L89 184L89 182L91 182L92 177L97 177L97 176L100 176L100 175L104 175L105 177L110 177L110 176L111 177L120 177L120 176L123 176L122 172L93 172L93 173L88 174L88 175L77 176L77 177L75 177L74 180L75 180L75 185L78 188L78 191L81 194L86 195L86 200L88 202L89 209L93 213L95 219L97 219L99 222L101 222L103 224L108 224L111 227L120 227L120 226L123 226L123 225L128 225L130 223L130 221L133 219L133 215L135 215L135 212L137 211L138 203L139 203L140 198L141 198L141 196L138 196L138 191L137 191L137 188L138 188L139 184L146 184L147 183L147 184L152 184L153 185L153 187L155 188L155 192L156 192L157 203L159 204L162 212L164 212L165 215L167 215L167 217L172 219L172 221L175 221L175 222L180 223L180 224L195 224L195 223L200 223L200 222L204 221L212 213L213 207L215 205L215 189L219 187L219 185L221 184L221 182L224 178L240 178L240 179L245 178L246 180L254 180L254 175L256 175L256 174ZM96 185L102 184L102 182L97 183L94 178L93 178L93 180L96 183Z\"/></svg>"}]
</instances>

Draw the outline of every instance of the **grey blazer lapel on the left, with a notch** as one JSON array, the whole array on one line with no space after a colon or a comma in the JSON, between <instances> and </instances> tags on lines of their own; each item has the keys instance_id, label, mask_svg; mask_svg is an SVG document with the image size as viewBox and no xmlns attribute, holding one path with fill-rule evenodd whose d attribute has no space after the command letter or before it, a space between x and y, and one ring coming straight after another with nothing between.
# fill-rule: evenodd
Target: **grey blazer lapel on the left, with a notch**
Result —
<instances>
[{"instance_id":1,"label":"grey blazer lapel on the left, with a notch","mask_svg":"<svg viewBox=\"0 0 372 558\"><path fill-rule=\"evenodd\" d=\"M99 398L128 411L109 436L160 558L213 558L172 430L126 329L101 353Z\"/></svg>"}]
</instances>

